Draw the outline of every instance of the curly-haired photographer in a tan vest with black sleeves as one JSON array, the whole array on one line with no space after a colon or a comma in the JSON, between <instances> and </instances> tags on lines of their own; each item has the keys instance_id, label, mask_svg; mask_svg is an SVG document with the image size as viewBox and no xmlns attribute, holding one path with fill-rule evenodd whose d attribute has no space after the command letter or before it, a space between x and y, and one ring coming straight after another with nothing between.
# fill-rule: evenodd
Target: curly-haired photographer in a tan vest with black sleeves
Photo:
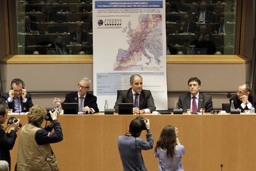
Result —
<instances>
[{"instance_id":1,"label":"curly-haired photographer in a tan vest with black sleeves","mask_svg":"<svg viewBox=\"0 0 256 171\"><path fill-rule=\"evenodd\" d=\"M43 106L33 106L27 117L28 124L20 130L17 170L59 170L50 143L63 140L58 111L51 112L51 121L45 128L41 124L47 115ZM51 132L54 129L54 133Z\"/></svg>"}]
</instances>

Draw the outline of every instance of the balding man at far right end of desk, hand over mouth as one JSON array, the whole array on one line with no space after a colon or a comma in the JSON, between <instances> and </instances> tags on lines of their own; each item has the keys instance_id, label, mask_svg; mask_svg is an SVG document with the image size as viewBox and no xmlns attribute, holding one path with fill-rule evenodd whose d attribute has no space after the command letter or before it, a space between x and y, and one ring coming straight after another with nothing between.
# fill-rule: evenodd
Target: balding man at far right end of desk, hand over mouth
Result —
<instances>
[{"instance_id":1,"label":"balding man at far right end of desk, hand over mouth","mask_svg":"<svg viewBox=\"0 0 256 171\"><path fill-rule=\"evenodd\" d=\"M250 108L253 107L252 104L254 104L253 98L250 95L250 87L247 84L240 85L236 92L237 94L229 99L230 104L231 101L233 101L234 108L241 109L241 112L250 110Z\"/></svg>"}]
</instances>

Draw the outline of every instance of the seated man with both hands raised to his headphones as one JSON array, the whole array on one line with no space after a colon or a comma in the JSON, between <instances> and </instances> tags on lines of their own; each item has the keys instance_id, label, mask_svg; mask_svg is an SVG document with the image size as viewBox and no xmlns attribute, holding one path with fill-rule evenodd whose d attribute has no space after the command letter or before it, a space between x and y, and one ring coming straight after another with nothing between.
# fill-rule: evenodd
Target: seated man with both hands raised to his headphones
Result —
<instances>
[{"instance_id":1,"label":"seated man with both hands raised to his headphones","mask_svg":"<svg viewBox=\"0 0 256 171\"><path fill-rule=\"evenodd\" d=\"M28 112L33 106L31 94L25 90L25 84L19 78L15 78L11 82L11 90L8 93L2 94L2 104L8 102L9 109L12 112Z\"/></svg>"}]
</instances>

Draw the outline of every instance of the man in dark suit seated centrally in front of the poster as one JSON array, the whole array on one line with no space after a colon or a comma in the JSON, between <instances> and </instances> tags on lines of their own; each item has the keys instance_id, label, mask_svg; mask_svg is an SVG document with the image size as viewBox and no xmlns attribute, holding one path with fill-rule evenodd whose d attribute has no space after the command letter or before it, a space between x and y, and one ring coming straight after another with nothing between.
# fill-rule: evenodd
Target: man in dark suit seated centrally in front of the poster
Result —
<instances>
[{"instance_id":1,"label":"man in dark suit seated centrally in front of the poster","mask_svg":"<svg viewBox=\"0 0 256 171\"><path fill-rule=\"evenodd\" d=\"M117 98L114 109L118 112L118 104L129 102L134 104L133 114L148 114L156 110L150 90L142 90L142 77L134 74L130 77L131 88L122 91Z\"/></svg>"}]
</instances>

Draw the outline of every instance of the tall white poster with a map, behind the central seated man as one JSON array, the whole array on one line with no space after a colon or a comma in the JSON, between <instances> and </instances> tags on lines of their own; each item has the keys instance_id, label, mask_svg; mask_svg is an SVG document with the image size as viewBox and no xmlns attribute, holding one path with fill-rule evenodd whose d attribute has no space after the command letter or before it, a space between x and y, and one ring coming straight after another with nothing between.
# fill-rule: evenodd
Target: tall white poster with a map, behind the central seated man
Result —
<instances>
[{"instance_id":1,"label":"tall white poster with a map, behind the central seated man","mask_svg":"<svg viewBox=\"0 0 256 171\"><path fill-rule=\"evenodd\" d=\"M104 111L130 75L143 78L156 110L168 109L165 1L93 1L93 92Z\"/></svg>"}]
</instances>

